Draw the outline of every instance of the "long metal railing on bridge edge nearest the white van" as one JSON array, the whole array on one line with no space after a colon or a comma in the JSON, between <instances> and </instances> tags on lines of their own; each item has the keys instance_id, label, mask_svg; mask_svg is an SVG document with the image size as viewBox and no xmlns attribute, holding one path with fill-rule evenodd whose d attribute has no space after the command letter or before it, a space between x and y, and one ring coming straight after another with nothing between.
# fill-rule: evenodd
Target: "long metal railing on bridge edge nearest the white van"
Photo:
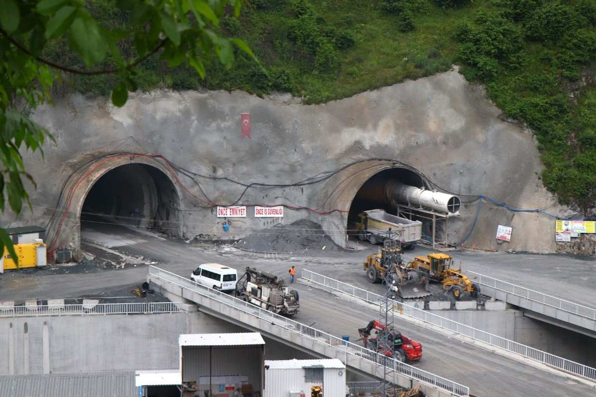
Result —
<instances>
[{"instance_id":1,"label":"long metal railing on bridge edge nearest the white van","mask_svg":"<svg viewBox=\"0 0 596 397\"><path fill-rule=\"evenodd\" d=\"M468 396L470 389L467 386L460 385L452 380L445 379L438 375L430 372L421 370L420 368L412 367L412 365L405 364L395 360L394 358L387 357L382 354L378 354L370 349L364 348L364 346L356 345L352 342L347 342L338 336L330 335L326 332L322 332L318 329L306 326L305 324L298 323L297 321L290 320L287 317L275 314L274 312L265 310L257 307L256 305L245 302L242 299L235 298L234 296L228 295L224 292L205 287L197 284L192 280L189 280L178 274L171 273L167 270L163 270L159 267L150 266L149 275L151 278L164 280L176 285L183 289L190 290L191 292L198 293L206 298L213 299L221 304L226 305L229 308L244 312L254 317L260 318L267 321L268 324L274 324L282 327L283 329L306 337L314 342L324 345L325 347L331 347L337 349L337 351L349 355L350 357L358 357L362 360L367 360L378 365L386 364L390 370L396 373L403 374L419 382L427 383L434 387L443 389L457 396ZM324 348L321 346L321 348ZM390 379L388 379L390 380Z\"/></svg>"}]
</instances>

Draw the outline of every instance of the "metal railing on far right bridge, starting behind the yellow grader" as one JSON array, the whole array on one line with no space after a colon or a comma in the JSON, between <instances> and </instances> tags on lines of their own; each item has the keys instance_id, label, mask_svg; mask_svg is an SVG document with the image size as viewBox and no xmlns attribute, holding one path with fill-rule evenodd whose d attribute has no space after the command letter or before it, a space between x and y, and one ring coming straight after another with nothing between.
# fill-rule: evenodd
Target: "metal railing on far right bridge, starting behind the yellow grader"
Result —
<instances>
[{"instance_id":1,"label":"metal railing on far right bridge, starting behind the yellow grader","mask_svg":"<svg viewBox=\"0 0 596 397\"><path fill-rule=\"evenodd\" d=\"M572 314L580 315L582 317L589 318L590 320L596 320L596 309L586 307L583 305L576 304L574 302L566 301L565 299L556 298L552 295L547 295L542 292L538 292L532 289L520 287L502 280L493 279L492 277L485 276L484 274L476 273L474 271L466 270L470 279L474 279L475 283L483 286L491 287L499 291L510 293L511 295L519 296L520 298L528 299L529 301L538 302L543 305L554 307L558 310L570 312Z\"/></svg>"}]
</instances>

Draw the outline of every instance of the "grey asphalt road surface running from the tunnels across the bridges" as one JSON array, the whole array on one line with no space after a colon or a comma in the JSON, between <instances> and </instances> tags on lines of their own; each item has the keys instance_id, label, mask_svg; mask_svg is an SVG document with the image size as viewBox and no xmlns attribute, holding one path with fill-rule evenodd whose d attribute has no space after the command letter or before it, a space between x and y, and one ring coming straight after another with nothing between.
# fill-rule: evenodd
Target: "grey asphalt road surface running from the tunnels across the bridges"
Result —
<instances>
[{"instance_id":1,"label":"grey asphalt road surface running from the tunnels across the bridges","mask_svg":"<svg viewBox=\"0 0 596 397\"><path fill-rule=\"evenodd\" d=\"M190 276L191 271L205 262L219 262L237 268L246 266L267 269L289 281L288 268L294 265L297 276L302 268L316 271L352 285L382 292L383 286L371 285L365 278L362 262L378 250L370 247L359 252L317 251L292 255L268 255L244 252L232 246L193 245L181 240L170 240L116 225L94 225L83 229L83 238L92 238L110 251L123 252L147 262L160 262L173 273ZM119 245L122 243L122 245ZM423 255L428 249L418 247L408 251L405 259ZM561 298L594 302L596 293L589 288L589 280L596 262L580 261L554 255L493 254L480 252L455 252L455 260L462 267L493 277L503 278L522 286L532 287ZM563 265L565 263L565 265ZM93 291L117 289L123 285L141 283L147 276L147 265L135 263L121 269L105 269L89 273L52 274L51 270L36 273L5 273L0 275L0 301L48 298L75 298ZM590 273L591 271L591 273ZM558 275L550 279L548 275ZM584 280L586 277L587 280ZM566 281L561 279L566 278ZM535 282L532 282L535 280ZM558 281L557 281L558 280ZM554 291L550 290L550 286ZM300 293L301 310L295 320L337 336L349 335L358 339L358 328L378 317L378 310L339 298L324 290L314 289L303 283L294 283ZM579 293L581 291L583 293ZM104 297L106 296L102 293ZM515 360L493 354L486 349L462 343L426 328L402 321L397 324L405 335L423 344L423 360L415 363L419 368L439 374L470 387L477 396L594 396L595 391L565 376L558 376L524 365Z\"/></svg>"}]
</instances>

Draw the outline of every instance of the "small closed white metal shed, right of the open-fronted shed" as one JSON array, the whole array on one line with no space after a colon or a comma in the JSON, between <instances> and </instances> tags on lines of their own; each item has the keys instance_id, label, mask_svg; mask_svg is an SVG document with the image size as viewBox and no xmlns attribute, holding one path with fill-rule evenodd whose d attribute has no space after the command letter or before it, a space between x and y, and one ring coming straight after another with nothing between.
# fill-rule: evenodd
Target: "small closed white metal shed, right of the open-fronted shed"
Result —
<instances>
[{"instance_id":1,"label":"small closed white metal shed, right of the open-fronted shed","mask_svg":"<svg viewBox=\"0 0 596 397\"><path fill-rule=\"evenodd\" d=\"M345 397L346 365L333 359L266 360L265 397Z\"/></svg>"}]
</instances>

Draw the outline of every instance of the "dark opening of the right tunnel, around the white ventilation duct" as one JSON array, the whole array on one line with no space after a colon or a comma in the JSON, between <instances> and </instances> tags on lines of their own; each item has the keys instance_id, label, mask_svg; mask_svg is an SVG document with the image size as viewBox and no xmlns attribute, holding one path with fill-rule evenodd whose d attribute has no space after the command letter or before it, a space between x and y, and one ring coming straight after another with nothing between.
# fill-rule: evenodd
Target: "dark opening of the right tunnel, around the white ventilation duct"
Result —
<instances>
[{"instance_id":1,"label":"dark opening of the right tunnel, around the white ventilation duct","mask_svg":"<svg viewBox=\"0 0 596 397\"><path fill-rule=\"evenodd\" d=\"M386 190L386 183L397 180L405 185L423 187L429 186L424 182L423 177L415 171L408 168L389 168L374 174L364 183L356 192L350 211L348 213L348 235L355 239L358 235L356 231L358 223L358 214L368 210L384 210L388 214L397 215L396 207L392 202L390 192Z\"/></svg>"}]
</instances>

